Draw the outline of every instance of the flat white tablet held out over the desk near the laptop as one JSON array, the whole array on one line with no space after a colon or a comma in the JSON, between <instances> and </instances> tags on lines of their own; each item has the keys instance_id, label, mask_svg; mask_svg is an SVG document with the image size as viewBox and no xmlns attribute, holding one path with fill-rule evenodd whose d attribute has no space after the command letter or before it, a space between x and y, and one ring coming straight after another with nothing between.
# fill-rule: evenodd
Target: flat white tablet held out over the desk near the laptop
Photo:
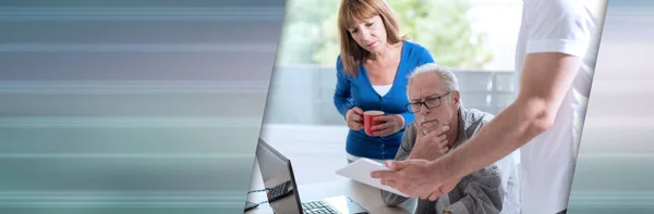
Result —
<instances>
[{"instance_id":1,"label":"flat white tablet held out over the desk near the laptop","mask_svg":"<svg viewBox=\"0 0 654 214\"><path fill-rule=\"evenodd\" d=\"M389 186L382 185L380 179L372 178L371 173L375 171L390 171L390 168L386 167L384 164L375 162L370 159L361 158L351 164L342 167L341 169L336 171L337 175L402 196L407 197L407 194L401 191L393 189ZM407 197L410 198L410 197Z\"/></svg>"}]
</instances>

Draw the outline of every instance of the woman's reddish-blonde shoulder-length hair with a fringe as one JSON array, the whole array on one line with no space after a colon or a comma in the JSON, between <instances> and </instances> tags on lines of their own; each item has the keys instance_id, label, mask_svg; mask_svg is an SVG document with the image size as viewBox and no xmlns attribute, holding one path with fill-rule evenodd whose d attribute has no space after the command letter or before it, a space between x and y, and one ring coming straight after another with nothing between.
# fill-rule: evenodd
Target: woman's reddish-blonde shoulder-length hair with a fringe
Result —
<instances>
[{"instance_id":1,"label":"woman's reddish-blonde shoulder-length hair with a fringe","mask_svg":"<svg viewBox=\"0 0 654 214\"><path fill-rule=\"evenodd\" d=\"M350 76L356 76L364 58L370 52L360 47L348 30L356 23L379 15L386 29L387 42L395 45L407 39L399 33L395 12L386 0L342 0L338 11L338 34L340 37L340 58Z\"/></svg>"}]
</instances>

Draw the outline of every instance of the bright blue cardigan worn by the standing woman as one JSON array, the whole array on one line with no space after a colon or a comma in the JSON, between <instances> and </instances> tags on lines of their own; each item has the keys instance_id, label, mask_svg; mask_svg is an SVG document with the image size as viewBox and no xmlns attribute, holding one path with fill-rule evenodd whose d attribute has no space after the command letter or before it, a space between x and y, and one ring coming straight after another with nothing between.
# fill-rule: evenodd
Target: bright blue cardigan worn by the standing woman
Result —
<instances>
[{"instance_id":1,"label":"bright blue cardigan worn by the standing woman","mask_svg":"<svg viewBox=\"0 0 654 214\"><path fill-rule=\"evenodd\" d=\"M379 110L386 114L400 114L404 117L405 128L415 118L413 113L407 110L409 103L407 98L408 75L415 67L433 62L432 53L426 48L412 41L404 41L392 87L388 93L382 97L373 88L364 66L359 70L356 77L352 77L346 73L339 55L336 61L337 83L334 104L343 117L346 112L353 106L359 106L363 111ZM363 129L350 129L346 151L352 155L368 159L395 159L404 128L387 137L371 137Z\"/></svg>"}]
</instances>

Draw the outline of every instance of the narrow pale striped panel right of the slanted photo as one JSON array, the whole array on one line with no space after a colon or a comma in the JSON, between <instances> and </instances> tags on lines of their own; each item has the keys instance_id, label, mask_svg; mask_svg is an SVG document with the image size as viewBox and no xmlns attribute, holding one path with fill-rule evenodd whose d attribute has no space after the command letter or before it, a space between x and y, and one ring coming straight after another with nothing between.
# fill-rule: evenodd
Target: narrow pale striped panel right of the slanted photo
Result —
<instances>
[{"instance_id":1,"label":"narrow pale striped panel right of the slanted photo","mask_svg":"<svg viewBox=\"0 0 654 214\"><path fill-rule=\"evenodd\" d=\"M608 1L569 213L654 213L653 25L653 1Z\"/></svg>"}]
</instances>

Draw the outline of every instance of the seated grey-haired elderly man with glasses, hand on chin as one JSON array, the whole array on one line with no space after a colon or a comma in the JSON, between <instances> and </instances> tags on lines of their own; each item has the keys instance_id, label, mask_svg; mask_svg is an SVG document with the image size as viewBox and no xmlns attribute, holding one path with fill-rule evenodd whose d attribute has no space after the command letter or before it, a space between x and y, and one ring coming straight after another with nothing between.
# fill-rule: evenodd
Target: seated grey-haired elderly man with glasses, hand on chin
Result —
<instances>
[{"instance_id":1,"label":"seated grey-haired elderly man with glasses, hand on chin","mask_svg":"<svg viewBox=\"0 0 654 214\"><path fill-rule=\"evenodd\" d=\"M415 114L415 121L407 127L396 160L436 160L464 143L494 117L463 108L455 75L433 63L414 70L407 91L407 108ZM520 213L514 155L452 182L443 190L449 192L436 201L420 200L415 213ZM407 200L384 190L382 198L393 206Z\"/></svg>"}]
</instances>

